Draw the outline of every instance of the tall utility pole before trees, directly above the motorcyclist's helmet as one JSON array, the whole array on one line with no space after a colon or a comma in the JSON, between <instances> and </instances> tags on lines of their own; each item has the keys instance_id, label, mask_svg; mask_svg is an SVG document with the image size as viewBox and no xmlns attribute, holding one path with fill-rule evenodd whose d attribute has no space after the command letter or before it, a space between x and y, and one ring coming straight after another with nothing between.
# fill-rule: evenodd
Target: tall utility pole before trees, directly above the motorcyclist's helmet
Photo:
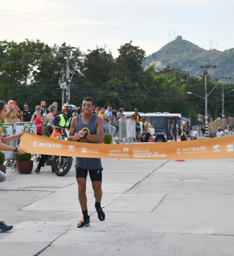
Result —
<instances>
[{"instance_id":1,"label":"tall utility pole before trees, directly above the motorcyclist's helmet","mask_svg":"<svg viewBox=\"0 0 234 256\"><path fill-rule=\"evenodd\" d=\"M66 103L69 104L71 101L71 93L70 93L70 55L71 50L76 49L76 47L66 46L63 48L60 48L62 51L66 52ZM63 99L63 93L62 90L62 99ZM63 101L62 105L64 105L65 100Z\"/></svg>"}]
</instances>

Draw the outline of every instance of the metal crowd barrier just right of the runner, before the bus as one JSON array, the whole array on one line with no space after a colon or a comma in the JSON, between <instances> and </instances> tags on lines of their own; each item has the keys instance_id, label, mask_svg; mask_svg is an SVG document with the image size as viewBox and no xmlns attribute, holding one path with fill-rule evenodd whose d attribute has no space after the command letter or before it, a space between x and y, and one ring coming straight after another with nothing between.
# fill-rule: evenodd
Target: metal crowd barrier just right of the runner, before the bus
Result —
<instances>
[{"instance_id":1,"label":"metal crowd barrier just right of the runner, before the bus","mask_svg":"<svg viewBox=\"0 0 234 256\"><path fill-rule=\"evenodd\" d=\"M114 121L104 121L106 133L112 135L116 144L136 143L136 124L132 119L115 119Z\"/></svg>"}]
</instances>

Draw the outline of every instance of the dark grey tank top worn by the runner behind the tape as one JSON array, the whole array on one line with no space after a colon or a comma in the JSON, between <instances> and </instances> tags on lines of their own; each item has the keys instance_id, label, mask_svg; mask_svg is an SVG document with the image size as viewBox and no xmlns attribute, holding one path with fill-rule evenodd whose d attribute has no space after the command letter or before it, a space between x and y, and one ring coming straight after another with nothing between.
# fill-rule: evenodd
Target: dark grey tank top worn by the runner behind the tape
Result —
<instances>
[{"instance_id":1,"label":"dark grey tank top worn by the runner behind the tape","mask_svg":"<svg viewBox=\"0 0 234 256\"><path fill-rule=\"evenodd\" d=\"M81 116L77 116L77 123L76 123L76 132L80 130L86 130L88 134L97 134L97 129L95 126L97 115L92 115L88 124L83 124ZM82 143L98 143L88 140L87 138L80 138L77 142ZM80 167L82 169L102 169L101 158L88 158L88 157L76 157L76 165L75 167Z\"/></svg>"}]
</instances>

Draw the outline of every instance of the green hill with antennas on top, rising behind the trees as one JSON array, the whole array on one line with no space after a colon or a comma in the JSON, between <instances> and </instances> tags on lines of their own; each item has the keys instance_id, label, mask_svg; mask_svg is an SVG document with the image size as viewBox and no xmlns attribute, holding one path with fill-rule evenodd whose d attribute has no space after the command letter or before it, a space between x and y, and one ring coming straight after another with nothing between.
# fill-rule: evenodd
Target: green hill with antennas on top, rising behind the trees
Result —
<instances>
[{"instance_id":1,"label":"green hill with antennas on top, rising behind the trees","mask_svg":"<svg viewBox=\"0 0 234 256\"><path fill-rule=\"evenodd\" d=\"M233 55L234 48L224 52L216 49L205 50L178 36L176 40L149 55L142 66L145 68L152 61L160 61L161 66L184 69L194 76L200 76L203 73L203 69L200 68L201 65L216 65L216 68L211 68L208 71L212 79L224 76L234 77Z\"/></svg>"}]
</instances>

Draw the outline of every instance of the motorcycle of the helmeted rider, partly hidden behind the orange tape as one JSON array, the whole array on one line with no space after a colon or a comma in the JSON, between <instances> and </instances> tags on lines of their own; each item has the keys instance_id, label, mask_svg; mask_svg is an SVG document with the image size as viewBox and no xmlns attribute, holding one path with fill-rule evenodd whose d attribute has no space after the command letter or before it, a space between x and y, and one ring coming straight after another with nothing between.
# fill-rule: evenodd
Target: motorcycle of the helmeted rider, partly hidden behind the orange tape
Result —
<instances>
[{"instance_id":1,"label":"motorcycle of the helmeted rider, partly hidden behind the orange tape","mask_svg":"<svg viewBox=\"0 0 234 256\"><path fill-rule=\"evenodd\" d=\"M66 133L61 133L57 138L59 140L66 140ZM51 162L51 171L55 172L57 176L65 176L68 174L73 165L73 157L49 155L48 160Z\"/></svg>"}]
</instances>

